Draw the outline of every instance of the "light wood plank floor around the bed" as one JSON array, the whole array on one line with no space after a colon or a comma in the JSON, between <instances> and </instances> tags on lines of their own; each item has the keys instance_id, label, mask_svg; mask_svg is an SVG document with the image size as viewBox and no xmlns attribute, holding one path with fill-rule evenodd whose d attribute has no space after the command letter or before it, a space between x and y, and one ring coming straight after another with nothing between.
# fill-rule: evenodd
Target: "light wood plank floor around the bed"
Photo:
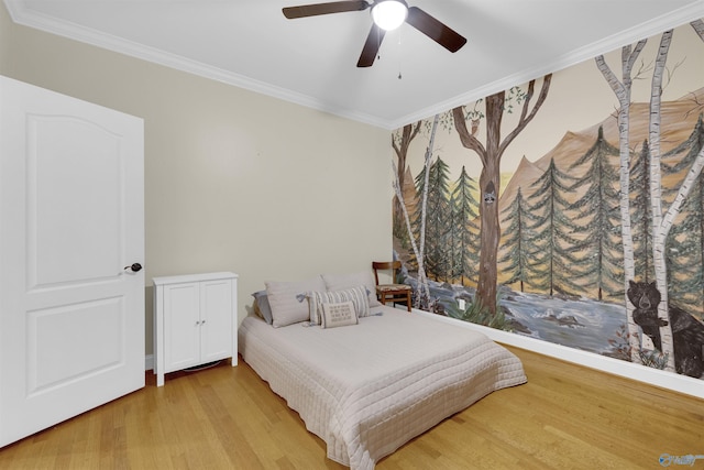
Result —
<instances>
[{"instance_id":1,"label":"light wood plank floor around the bed","mask_svg":"<svg viewBox=\"0 0 704 470\"><path fill-rule=\"evenodd\" d=\"M377 469L658 469L662 453L704 455L704 401L508 349L527 384L491 394ZM145 389L0 449L0 468L344 467L240 360L169 374L164 387L150 372Z\"/></svg>"}]
</instances>

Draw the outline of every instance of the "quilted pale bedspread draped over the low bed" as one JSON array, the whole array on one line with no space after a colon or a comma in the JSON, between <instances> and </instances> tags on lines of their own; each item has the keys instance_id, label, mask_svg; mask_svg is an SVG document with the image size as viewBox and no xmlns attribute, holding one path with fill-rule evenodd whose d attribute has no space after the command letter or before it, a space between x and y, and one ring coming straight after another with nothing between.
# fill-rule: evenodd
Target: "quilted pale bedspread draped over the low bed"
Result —
<instances>
[{"instance_id":1,"label":"quilted pale bedspread draped over the low bed","mask_svg":"<svg viewBox=\"0 0 704 470\"><path fill-rule=\"evenodd\" d=\"M493 391L526 382L518 358L465 328L375 307L332 329L239 329L242 358L352 470L376 461Z\"/></svg>"}]
</instances>

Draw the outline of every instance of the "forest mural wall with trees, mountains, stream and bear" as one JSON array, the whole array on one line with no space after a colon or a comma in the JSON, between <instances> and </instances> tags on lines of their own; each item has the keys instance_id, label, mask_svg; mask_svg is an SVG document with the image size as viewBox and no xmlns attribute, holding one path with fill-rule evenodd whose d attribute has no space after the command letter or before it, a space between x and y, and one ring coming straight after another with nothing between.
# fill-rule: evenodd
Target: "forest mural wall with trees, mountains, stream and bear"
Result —
<instances>
[{"instance_id":1,"label":"forest mural wall with trees, mountains, stream and bear","mask_svg":"<svg viewBox=\"0 0 704 470\"><path fill-rule=\"evenodd\" d=\"M393 132L414 305L704 379L704 22Z\"/></svg>"}]
</instances>

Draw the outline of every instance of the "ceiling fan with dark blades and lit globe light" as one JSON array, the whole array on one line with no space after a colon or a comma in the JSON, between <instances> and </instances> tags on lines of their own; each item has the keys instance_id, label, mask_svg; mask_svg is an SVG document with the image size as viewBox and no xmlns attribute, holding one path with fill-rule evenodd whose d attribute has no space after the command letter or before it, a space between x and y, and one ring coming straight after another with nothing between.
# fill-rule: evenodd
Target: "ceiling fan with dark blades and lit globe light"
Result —
<instances>
[{"instance_id":1,"label":"ceiling fan with dark blades and lit globe light","mask_svg":"<svg viewBox=\"0 0 704 470\"><path fill-rule=\"evenodd\" d=\"M372 30L366 36L362 54L356 63L358 67L370 67L382 45L386 31L395 30L404 22L410 24L450 52L458 52L466 39L454 30L446 26L418 7L408 7L404 0L349 0L327 3L314 3L299 7L286 7L282 11L289 20L296 18L317 17L320 14L343 13L372 9Z\"/></svg>"}]
</instances>

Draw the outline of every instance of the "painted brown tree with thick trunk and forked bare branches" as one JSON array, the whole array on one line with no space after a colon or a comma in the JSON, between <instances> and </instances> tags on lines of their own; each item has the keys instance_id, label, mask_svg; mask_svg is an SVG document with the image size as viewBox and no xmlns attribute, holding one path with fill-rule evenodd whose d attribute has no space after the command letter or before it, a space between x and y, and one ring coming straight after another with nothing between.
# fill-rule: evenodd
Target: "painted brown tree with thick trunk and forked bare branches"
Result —
<instances>
[{"instance_id":1,"label":"painted brown tree with thick trunk and forked bare branches","mask_svg":"<svg viewBox=\"0 0 704 470\"><path fill-rule=\"evenodd\" d=\"M528 90L522 96L522 108L516 127L502 140L502 121L506 110L506 91L499 91L486 98L486 141L482 143L470 132L466 125L468 113L460 106L452 110L454 128L460 136L462 145L476 153L482 162L480 175L480 273L476 286L476 302L488 313L496 315L496 294L498 291L497 255L501 239L501 226L498 220L498 195L501 192L501 162L504 152L510 143L526 129L526 125L536 117L536 113L548 97L552 74L542 78L542 87L535 105L531 101L535 95L536 80L530 80Z\"/></svg>"}]
</instances>

